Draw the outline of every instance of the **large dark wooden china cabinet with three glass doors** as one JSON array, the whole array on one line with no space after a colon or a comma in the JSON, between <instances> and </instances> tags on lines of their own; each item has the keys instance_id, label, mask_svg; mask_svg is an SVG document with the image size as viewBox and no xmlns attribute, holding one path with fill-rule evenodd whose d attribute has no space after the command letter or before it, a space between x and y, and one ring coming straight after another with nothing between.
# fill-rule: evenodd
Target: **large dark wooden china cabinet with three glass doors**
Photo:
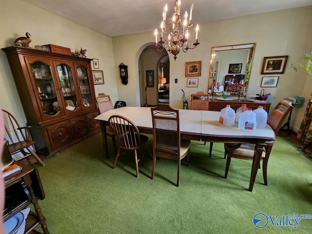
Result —
<instances>
[{"instance_id":1,"label":"large dark wooden china cabinet with three glass doors","mask_svg":"<svg viewBox=\"0 0 312 234\"><path fill-rule=\"evenodd\" d=\"M38 153L52 154L99 130L92 59L29 47L2 50Z\"/></svg>"}]
</instances>

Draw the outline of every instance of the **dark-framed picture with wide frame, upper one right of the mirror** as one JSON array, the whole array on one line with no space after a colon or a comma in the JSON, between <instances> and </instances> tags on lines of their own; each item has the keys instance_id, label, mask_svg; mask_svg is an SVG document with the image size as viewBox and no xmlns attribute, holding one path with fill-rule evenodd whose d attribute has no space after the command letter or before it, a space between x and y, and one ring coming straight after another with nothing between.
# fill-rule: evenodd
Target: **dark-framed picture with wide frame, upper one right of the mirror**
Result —
<instances>
[{"instance_id":1,"label":"dark-framed picture with wide frame, upper one right of the mirror","mask_svg":"<svg viewBox=\"0 0 312 234\"><path fill-rule=\"evenodd\" d=\"M288 55L264 57L261 74L283 74Z\"/></svg>"}]
</instances>

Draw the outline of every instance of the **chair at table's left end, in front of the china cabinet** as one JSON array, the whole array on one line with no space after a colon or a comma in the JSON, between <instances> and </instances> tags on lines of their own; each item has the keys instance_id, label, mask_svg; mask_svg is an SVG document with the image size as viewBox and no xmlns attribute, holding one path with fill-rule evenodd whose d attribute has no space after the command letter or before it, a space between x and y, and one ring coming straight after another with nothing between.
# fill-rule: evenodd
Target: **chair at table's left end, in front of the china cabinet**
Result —
<instances>
[{"instance_id":1,"label":"chair at table's left end, in front of the china cabinet","mask_svg":"<svg viewBox=\"0 0 312 234\"><path fill-rule=\"evenodd\" d=\"M101 94L98 94L98 96L96 98L97 98L98 109L99 109L100 114L114 109L112 99L109 95L101 93ZM112 138L114 153L116 155L117 154L117 147L116 147L115 135L113 133L113 130L110 128L110 126L106 126L106 136ZM107 145L107 137L105 137L104 140L105 140L106 145ZM103 147L104 147L104 142L103 142ZM108 149L105 149L105 150L106 150L106 157L108 158Z\"/></svg>"}]
</instances>

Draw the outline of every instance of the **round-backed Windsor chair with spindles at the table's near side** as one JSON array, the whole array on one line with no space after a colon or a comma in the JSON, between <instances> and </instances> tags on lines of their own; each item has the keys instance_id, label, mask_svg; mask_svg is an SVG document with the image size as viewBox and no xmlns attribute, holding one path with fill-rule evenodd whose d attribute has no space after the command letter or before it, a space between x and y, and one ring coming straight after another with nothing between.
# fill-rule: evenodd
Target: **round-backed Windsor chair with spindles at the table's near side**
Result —
<instances>
[{"instance_id":1,"label":"round-backed Windsor chair with spindles at the table's near side","mask_svg":"<svg viewBox=\"0 0 312 234\"><path fill-rule=\"evenodd\" d=\"M137 149L145 146L149 155L152 157L146 142L147 136L141 135L137 126L128 118L113 115L108 119L110 128L113 130L114 135L117 138L118 150L114 161L113 168L116 167L118 157L121 155L121 150L133 151L134 155L123 153L126 155L134 156L136 161L136 172L138 178L138 162L140 158L137 155Z\"/></svg>"}]
</instances>

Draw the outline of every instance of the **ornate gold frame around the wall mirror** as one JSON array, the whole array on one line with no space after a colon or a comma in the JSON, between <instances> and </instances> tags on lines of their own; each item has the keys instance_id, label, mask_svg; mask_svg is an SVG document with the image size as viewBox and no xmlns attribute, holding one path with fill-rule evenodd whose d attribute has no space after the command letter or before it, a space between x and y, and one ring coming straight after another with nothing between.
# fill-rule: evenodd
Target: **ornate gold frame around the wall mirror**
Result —
<instances>
[{"instance_id":1,"label":"ornate gold frame around the wall mirror","mask_svg":"<svg viewBox=\"0 0 312 234\"><path fill-rule=\"evenodd\" d=\"M210 60L210 70L209 70L209 77L208 77L208 93L211 92L211 87L213 87L213 84L215 81L214 80L215 53L217 51L249 49L247 62L246 62L246 69L245 69L245 74L244 74L244 89L241 92L241 93L247 93L248 83L249 83L252 65L254 61L255 46L256 46L256 43L247 43L247 44L211 47L211 60ZM231 93L232 93L232 96L240 95L240 93L235 93L235 92L231 92Z\"/></svg>"}]
</instances>

